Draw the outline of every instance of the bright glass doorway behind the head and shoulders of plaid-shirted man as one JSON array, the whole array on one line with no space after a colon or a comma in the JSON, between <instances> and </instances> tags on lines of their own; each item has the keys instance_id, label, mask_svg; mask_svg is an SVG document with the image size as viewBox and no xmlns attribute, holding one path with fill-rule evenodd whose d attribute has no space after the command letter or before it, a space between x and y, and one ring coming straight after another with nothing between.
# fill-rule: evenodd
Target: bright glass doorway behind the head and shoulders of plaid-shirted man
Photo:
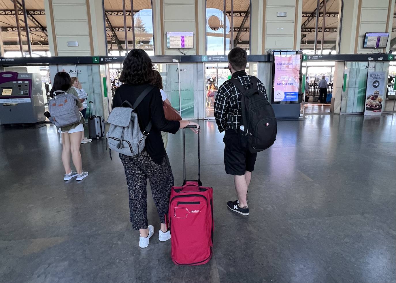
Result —
<instances>
[{"instance_id":1,"label":"bright glass doorway behind the head and shoulders of plaid-shirted man","mask_svg":"<svg viewBox=\"0 0 396 283\"><path fill-rule=\"evenodd\" d=\"M246 73L248 75L257 76L257 63L247 63ZM226 80L231 78L228 63L205 63L205 118L214 118L213 103L217 96L217 90Z\"/></svg>"}]
</instances>

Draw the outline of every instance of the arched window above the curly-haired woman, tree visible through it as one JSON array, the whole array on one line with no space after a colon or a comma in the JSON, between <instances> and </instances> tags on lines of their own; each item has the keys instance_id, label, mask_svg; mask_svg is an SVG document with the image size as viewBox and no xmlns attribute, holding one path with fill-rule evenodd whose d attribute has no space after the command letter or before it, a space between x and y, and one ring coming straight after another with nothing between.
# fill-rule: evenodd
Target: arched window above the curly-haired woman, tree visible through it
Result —
<instances>
[{"instance_id":1,"label":"arched window above the curly-haired woman, tree visible through it","mask_svg":"<svg viewBox=\"0 0 396 283\"><path fill-rule=\"evenodd\" d=\"M103 1L108 54L124 55L132 48L141 48L154 55L151 0Z\"/></svg>"}]
</instances>

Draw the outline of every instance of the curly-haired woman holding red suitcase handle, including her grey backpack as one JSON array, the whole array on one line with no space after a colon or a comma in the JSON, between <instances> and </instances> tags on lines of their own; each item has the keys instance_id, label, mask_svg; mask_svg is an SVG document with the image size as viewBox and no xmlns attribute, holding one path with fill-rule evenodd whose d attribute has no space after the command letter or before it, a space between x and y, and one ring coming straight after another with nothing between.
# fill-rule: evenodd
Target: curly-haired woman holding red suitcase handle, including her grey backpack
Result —
<instances>
[{"instance_id":1,"label":"curly-haired woman holding red suitcase handle, including her grey backpack","mask_svg":"<svg viewBox=\"0 0 396 283\"><path fill-rule=\"evenodd\" d=\"M150 57L142 49L131 50L124 60L120 76L124 84L116 89L113 110L107 120L110 123L107 141L112 151L120 153L124 165L129 190L129 220L132 228L140 231L141 248L148 246L148 240L154 233L154 226L148 225L147 220L147 179L161 222L158 240L170 239L165 215L168 214L173 173L161 131L176 134L188 125L199 128L195 122L165 119L160 90L151 85L153 80ZM197 133L197 128L192 130ZM139 139L136 140L135 136ZM144 147L141 146L143 144Z\"/></svg>"}]
</instances>

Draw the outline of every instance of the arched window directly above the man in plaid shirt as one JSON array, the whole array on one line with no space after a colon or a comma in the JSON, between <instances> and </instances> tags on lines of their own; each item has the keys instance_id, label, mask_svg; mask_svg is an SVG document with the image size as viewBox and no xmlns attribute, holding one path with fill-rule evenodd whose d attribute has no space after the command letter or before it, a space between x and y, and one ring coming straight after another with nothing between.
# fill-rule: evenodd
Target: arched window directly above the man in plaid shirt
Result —
<instances>
[{"instance_id":1,"label":"arched window directly above the man in plaid shirt","mask_svg":"<svg viewBox=\"0 0 396 283\"><path fill-rule=\"evenodd\" d=\"M250 49L250 0L206 1L206 54L225 55L238 46Z\"/></svg>"}]
</instances>

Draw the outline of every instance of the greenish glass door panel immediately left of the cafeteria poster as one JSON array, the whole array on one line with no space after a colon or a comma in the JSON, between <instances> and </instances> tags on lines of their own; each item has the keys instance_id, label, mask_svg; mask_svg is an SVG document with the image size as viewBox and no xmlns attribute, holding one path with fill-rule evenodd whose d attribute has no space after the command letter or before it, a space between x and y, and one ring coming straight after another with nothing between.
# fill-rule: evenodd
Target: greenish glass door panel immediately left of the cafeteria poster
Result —
<instances>
[{"instance_id":1,"label":"greenish glass door panel immediately left of the cafeteria poster","mask_svg":"<svg viewBox=\"0 0 396 283\"><path fill-rule=\"evenodd\" d=\"M361 114L366 101L369 62L345 62L341 114Z\"/></svg>"}]
</instances>

